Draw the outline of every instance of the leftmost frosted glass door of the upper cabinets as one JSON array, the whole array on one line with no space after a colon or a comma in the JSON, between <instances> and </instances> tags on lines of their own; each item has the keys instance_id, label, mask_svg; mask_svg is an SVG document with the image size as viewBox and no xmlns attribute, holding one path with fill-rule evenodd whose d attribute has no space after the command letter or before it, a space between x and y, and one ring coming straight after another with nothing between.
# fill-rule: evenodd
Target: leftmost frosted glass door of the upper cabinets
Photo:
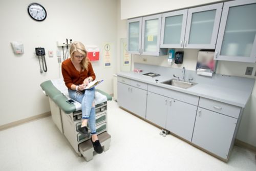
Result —
<instances>
[{"instance_id":1,"label":"leftmost frosted glass door of the upper cabinets","mask_svg":"<svg viewBox=\"0 0 256 171\"><path fill-rule=\"evenodd\" d=\"M140 54L141 51L141 21L142 18L127 20L127 49L129 53Z\"/></svg>"}]
</instances>

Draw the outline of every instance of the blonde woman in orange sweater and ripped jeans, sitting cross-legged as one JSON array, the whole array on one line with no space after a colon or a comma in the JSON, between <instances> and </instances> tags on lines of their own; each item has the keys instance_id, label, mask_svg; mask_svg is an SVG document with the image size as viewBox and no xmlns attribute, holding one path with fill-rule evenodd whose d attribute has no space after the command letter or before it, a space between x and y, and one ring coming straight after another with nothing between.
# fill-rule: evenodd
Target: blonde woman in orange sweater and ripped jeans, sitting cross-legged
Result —
<instances>
[{"instance_id":1,"label":"blonde woman in orange sweater and ripped jeans, sitting cross-legged","mask_svg":"<svg viewBox=\"0 0 256 171\"><path fill-rule=\"evenodd\" d=\"M98 140L95 123L95 88L84 90L90 81L95 80L92 63L87 58L87 51L84 45L75 41L70 47L71 58L62 62L61 71L68 87L69 97L80 102L82 105L82 124L77 130L85 137L90 137L87 123L91 130L91 141L95 152L102 153L103 149Z\"/></svg>"}]
</instances>

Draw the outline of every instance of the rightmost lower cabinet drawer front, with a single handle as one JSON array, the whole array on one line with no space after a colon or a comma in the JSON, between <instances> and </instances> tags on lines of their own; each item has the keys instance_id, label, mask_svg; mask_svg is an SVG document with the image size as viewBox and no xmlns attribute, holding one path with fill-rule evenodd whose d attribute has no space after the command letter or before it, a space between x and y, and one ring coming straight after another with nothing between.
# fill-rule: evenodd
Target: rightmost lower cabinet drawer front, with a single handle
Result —
<instances>
[{"instance_id":1,"label":"rightmost lower cabinet drawer front, with a single handle","mask_svg":"<svg viewBox=\"0 0 256 171\"><path fill-rule=\"evenodd\" d=\"M231 104L200 97L199 106L224 115L238 118L241 108Z\"/></svg>"}]
</instances>

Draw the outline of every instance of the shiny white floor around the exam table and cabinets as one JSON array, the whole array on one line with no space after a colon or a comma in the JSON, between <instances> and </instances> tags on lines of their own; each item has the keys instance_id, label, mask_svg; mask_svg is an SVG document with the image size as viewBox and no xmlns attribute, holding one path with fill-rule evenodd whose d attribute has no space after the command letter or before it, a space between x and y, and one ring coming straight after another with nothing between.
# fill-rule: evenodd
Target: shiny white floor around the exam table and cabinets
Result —
<instances>
[{"instance_id":1,"label":"shiny white floor around the exam table and cabinets","mask_svg":"<svg viewBox=\"0 0 256 171\"><path fill-rule=\"evenodd\" d=\"M0 132L0 170L256 170L255 154L234 146L222 162L108 103L109 151L86 162L51 117Z\"/></svg>"}]
</instances>

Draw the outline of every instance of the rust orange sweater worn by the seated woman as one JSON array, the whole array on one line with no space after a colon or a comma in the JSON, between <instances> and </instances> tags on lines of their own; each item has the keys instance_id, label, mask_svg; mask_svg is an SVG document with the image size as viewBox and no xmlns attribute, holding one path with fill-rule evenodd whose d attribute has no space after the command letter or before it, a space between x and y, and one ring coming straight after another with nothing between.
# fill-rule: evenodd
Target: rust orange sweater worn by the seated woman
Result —
<instances>
[{"instance_id":1,"label":"rust orange sweater worn by the seated woman","mask_svg":"<svg viewBox=\"0 0 256 171\"><path fill-rule=\"evenodd\" d=\"M77 71L71 61L71 59L66 59L62 62L61 72L65 81L66 86L71 89L71 85L79 85L83 83L83 80L87 77L92 77L95 80L96 76L93 71L92 63L89 62L88 70Z\"/></svg>"}]
</instances>

